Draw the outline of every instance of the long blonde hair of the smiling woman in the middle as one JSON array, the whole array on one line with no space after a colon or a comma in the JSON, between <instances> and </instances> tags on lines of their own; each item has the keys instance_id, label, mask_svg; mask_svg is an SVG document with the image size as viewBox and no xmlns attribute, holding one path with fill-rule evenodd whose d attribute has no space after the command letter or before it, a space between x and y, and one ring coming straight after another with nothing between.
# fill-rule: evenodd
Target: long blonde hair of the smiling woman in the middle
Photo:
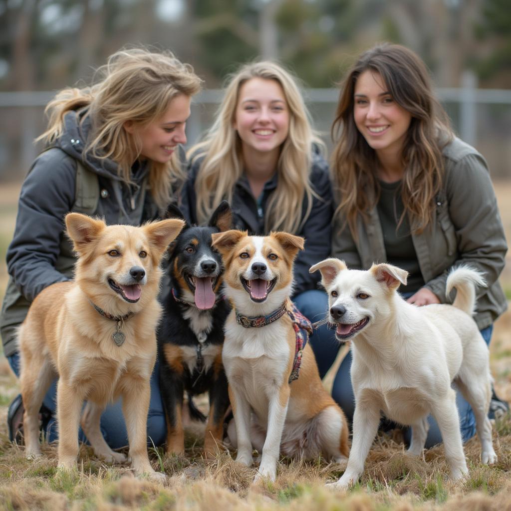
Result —
<instances>
[{"instance_id":1,"label":"long blonde hair of the smiling woman in the middle","mask_svg":"<svg viewBox=\"0 0 511 511\"><path fill-rule=\"evenodd\" d=\"M189 151L192 162L204 158L195 181L197 219L207 222L223 200L233 200L235 183L243 173L241 139L234 129L241 86L252 78L275 80L282 87L289 108L289 134L277 161L278 184L267 203L265 231L296 233L310 215L313 196L309 180L313 144L323 147L314 133L309 114L293 77L274 62L245 64L230 77L217 118L205 140ZM304 219L303 200L307 197Z\"/></svg>"}]
</instances>

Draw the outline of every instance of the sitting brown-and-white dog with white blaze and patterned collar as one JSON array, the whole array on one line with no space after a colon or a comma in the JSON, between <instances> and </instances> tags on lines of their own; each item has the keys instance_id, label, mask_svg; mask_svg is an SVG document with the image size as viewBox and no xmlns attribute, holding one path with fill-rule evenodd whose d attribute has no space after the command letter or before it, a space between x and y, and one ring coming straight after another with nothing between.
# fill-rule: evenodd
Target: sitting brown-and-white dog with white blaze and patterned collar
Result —
<instances>
[{"instance_id":1,"label":"sitting brown-and-white dog with white blaze and patterned collar","mask_svg":"<svg viewBox=\"0 0 511 511\"><path fill-rule=\"evenodd\" d=\"M250 465L257 449L262 459L256 479L272 480L279 452L306 458L322 453L345 461L346 420L321 384L309 344L301 353L299 377L290 382L298 352L289 296L293 261L304 239L287 233L247 236L239 230L212 238L222 254L225 294L233 305L222 359L236 424L236 430L228 428L238 449L236 461Z\"/></svg>"}]
</instances>

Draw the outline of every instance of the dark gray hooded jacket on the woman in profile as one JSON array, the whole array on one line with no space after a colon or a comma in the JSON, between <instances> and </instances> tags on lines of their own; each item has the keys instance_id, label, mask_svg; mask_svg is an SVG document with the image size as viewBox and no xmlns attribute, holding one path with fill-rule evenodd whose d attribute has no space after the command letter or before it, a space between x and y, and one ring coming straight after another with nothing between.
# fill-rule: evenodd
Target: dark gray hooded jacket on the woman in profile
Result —
<instances>
[{"instance_id":1,"label":"dark gray hooded jacket on the woman in profile","mask_svg":"<svg viewBox=\"0 0 511 511\"><path fill-rule=\"evenodd\" d=\"M146 193L146 165L133 166L133 184L127 185L114 161L83 152L90 131L85 114L85 110L65 114L64 132L52 148L36 158L21 187L6 258L11 278L0 317L6 356L16 351L16 327L31 301L44 288L73 276L75 256L64 232L67 213L97 215L107 224L140 225L158 217L158 208ZM84 198L84 194L88 196ZM84 202L89 206L83 208Z\"/></svg>"}]
</instances>

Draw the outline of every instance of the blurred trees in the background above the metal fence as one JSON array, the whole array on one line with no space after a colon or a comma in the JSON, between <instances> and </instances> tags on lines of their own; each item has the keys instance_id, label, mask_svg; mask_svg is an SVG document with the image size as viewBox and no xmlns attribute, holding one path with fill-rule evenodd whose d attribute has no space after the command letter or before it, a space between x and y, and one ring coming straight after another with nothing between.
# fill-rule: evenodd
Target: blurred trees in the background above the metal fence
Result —
<instances>
[{"instance_id":1,"label":"blurred trees in the background above the metal fence","mask_svg":"<svg viewBox=\"0 0 511 511\"><path fill-rule=\"evenodd\" d=\"M407 45L435 83L511 84L509 0L0 0L0 90L88 79L125 44L170 48L209 88L236 64L282 61L311 87L331 87L361 50Z\"/></svg>"}]
</instances>

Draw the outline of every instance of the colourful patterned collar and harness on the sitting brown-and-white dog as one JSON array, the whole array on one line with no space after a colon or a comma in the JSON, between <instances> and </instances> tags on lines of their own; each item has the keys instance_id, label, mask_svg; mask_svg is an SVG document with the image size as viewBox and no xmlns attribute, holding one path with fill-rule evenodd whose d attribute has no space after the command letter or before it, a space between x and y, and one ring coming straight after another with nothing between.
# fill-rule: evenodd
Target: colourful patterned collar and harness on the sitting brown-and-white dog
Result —
<instances>
[{"instance_id":1,"label":"colourful patterned collar and harness on the sitting brown-and-white dog","mask_svg":"<svg viewBox=\"0 0 511 511\"><path fill-rule=\"evenodd\" d=\"M281 318L284 316L284 314L287 314L291 319L291 324L293 326L296 337L293 368L291 369L291 374L289 375L288 380L288 383L291 383L292 381L298 379L301 357L303 355L307 341L309 340L309 336L313 332L311 322L303 314L301 314L296 306L288 299L286 299L282 307L278 308L276 311L273 311L267 316L247 317L236 313L236 322L245 328L260 328L265 327L267 324L273 323L273 321Z\"/></svg>"}]
</instances>

